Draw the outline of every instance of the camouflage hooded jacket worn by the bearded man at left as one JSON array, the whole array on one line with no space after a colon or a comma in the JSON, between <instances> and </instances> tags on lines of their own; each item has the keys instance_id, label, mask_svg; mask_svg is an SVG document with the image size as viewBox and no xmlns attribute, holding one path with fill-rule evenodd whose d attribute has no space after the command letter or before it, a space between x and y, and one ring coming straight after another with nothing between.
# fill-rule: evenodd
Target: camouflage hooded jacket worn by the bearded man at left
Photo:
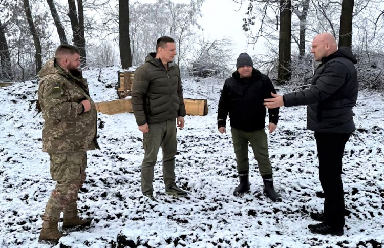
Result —
<instances>
[{"instance_id":1,"label":"camouflage hooded jacket worn by the bearded man at left","mask_svg":"<svg viewBox=\"0 0 384 248\"><path fill-rule=\"evenodd\" d=\"M99 148L96 140L97 110L81 71L62 70L50 59L38 73L38 101L42 109L42 150L68 153ZM88 99L91 110L83 113L80 102Z\"/></svg>"}]
</instances>

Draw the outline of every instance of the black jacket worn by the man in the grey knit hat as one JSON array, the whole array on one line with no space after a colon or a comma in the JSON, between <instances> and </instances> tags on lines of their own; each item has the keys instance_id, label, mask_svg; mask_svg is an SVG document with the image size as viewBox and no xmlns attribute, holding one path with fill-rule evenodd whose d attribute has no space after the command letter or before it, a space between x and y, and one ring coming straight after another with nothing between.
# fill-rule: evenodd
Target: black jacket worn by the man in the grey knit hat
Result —
<instances>
[{"instance_id":1,"label":"black jacket worn by the man in the grey knit hat","mask_svg":"<svg viewBox=\"0 0 384 248\"><path fill-rule=\"evenodd\" d=\"M236 71L225 80L219 100L218 128L225 127L229 113L230 125L245 132L265 128L265 98L276 93L268 76L253 69L250 78L240 78ZM268 109L269 122L278 123L279 108Z\"/></svg>"}]
</instances>

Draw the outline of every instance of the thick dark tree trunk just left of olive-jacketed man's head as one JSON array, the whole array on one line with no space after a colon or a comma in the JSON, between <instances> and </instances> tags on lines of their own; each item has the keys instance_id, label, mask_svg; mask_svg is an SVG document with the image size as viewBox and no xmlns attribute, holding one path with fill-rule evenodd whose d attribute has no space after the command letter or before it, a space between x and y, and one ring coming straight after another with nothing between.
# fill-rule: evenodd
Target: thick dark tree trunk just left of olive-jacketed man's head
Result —
<instances>
[{"instance_id":1,"label":"thick dark tree trunk just left of olive-jacketed man's head","mask_svg":"<svg viewBox=\"0 0 384 248\"><path fill-rule=\"evenodd\" d=\"M129 10L129 1L119 0L119 45L121 67L123 69L132 66Z\"/></svg>"}]
</instances>

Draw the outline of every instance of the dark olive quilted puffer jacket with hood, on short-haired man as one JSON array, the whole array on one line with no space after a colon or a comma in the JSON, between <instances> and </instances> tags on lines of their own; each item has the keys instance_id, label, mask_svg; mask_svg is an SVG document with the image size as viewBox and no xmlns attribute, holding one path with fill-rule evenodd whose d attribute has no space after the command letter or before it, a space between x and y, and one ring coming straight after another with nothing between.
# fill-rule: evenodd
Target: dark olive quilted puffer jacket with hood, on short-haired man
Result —
<instances>
[{"instance_id":1,"label":"dark olive quilted puffer jacket with hood, on short-haired man","mask_svg":"<svg viewBox=\"0 0 384 248\"><path fill-rule=\"evenodd\" d=\"M135 71L132 86L132 108L137 125L156 123L185 116L183 88L179 67L168 63L165 70L156 53Z\"/></svg>"}]
</instances>

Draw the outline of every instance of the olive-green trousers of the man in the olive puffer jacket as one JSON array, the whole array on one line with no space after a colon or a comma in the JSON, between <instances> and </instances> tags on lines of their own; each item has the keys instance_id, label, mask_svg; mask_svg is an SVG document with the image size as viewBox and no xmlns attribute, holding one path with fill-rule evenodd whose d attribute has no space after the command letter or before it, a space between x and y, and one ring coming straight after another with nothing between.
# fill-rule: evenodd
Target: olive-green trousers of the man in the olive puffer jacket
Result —
<instances>
[{"instance_id":1,"label":"olive-green trousers of the man in the olive puffer jacket","mask_svg":"<svg viewBox=\"0 0 384 248\"><path fill-rule=\"evenodd\" d=\"M163 151L163 180L165 188L175 185L175 155L177 149L176 121L168 120L148 124L150 132L144 133L144 159L141 164L141 192L153 193L154 167L159 148Z\"/></svg>"}]
</instances>

